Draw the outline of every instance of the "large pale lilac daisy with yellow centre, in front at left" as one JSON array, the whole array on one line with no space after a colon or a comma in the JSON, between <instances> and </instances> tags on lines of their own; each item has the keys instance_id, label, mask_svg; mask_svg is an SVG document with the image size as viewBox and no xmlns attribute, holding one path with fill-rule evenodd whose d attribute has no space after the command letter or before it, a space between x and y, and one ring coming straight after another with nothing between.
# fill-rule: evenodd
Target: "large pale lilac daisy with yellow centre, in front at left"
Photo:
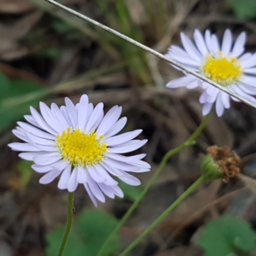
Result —
<instances>
[{"instance_id":1,"label":"large pale lilac daisy with yellow centre, in front at left","mask_svg":"<svg viewBox=\"0 0 256 256\"><path fill-rule=\"evenodd\" d=\"M103 104L95 108L83 95L74 105L68 98L65 106L54 103L49 108L40 102L40 113L31 107L31 115L25 118L30 124L17 122L13 133L25 143L10 143L13 150L21 151L22 159L33 161L33 170L45 173L39 180L49 184L60 176L58 188L69 192L83 184L97 206L97 200L105 202L105 196L115 198L124 194L118 179L138 186L140 180L129 172L148 172L150 165L141 161L145 154L123 156L142 147L147 140L133 140L142 130L120 132L127 122L120 117L122 108L114 106L104 116Z\"/></svg>"}]
</instances>

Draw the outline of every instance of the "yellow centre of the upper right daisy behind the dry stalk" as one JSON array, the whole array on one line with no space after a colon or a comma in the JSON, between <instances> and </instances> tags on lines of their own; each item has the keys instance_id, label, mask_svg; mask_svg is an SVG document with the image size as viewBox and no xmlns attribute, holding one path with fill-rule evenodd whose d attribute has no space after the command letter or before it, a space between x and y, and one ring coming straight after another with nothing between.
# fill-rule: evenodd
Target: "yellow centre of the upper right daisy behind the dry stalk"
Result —
<instances>
[{"instance_id":1,"label":"yellow centre of the upper right daisy behind the dry stalk","mask_svg":"<svg viewBox=\"0 0 256 256\"><path fill-rule=\"evenodd\" d=\"M227 86L239 80L242 70L237 58L222 58L221 55L219 58L207 56L202 72L212 81Z\"/></svg>"}]
</instances>

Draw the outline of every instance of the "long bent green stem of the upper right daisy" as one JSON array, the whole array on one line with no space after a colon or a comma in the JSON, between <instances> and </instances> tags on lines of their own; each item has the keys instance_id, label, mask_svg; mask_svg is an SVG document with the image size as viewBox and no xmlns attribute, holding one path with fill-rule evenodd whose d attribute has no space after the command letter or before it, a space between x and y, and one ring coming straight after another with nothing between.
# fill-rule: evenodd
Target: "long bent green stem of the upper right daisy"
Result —
<instances>
[{"instance_id":1,"label":"long bent green stem of the upper right daisy","mask_svg":"<svg viewBox=\"0 0 256 256\"><path fill-rule=\"evenodd\" d=\"M143 191L141 192L140 196L134 201L134 203L132 204L132 206L129 208L129 210L125 213L124 217L122 218L122 220L119 221L118 225L116 226L116 228L111 232L111 234L109 235L108 239L106 239L105 243L102 245L102 247L100 248L97 256L102 256L104 255L106 248L108 248L108 244L115 238L116 234L119 232L120 228L123 227L124 223L128 220L128 218L131 216L132 212L136 209L136 207L138 206L138 204L140 204L141 200L143 200L144 196L147 194L148 190L152 187L152 185L154 184L154 182L157 180L157 178L159 177L160 173L163 171L164 166L166 165L167 161L170 159L170 157L172 157L173 155L179 153L181 150L183 150L186 147L189 147L191 145L195 144L195 139L198 137L198 135L203 131L205 125L207 124L209 119L209 115L205 116L204 119L202 120L201 124L198 126L198 128L196 129L195 132L193 132L193 134L188 138L187 141L185 141L183 144L179 145L176 148L173 148L172 150L168 151L160 165L159 168L157 169L156 173L153 175L152 179L150 180L150 182L147 184L147 186L143 189Z\"/></svg>"}]
</instances>

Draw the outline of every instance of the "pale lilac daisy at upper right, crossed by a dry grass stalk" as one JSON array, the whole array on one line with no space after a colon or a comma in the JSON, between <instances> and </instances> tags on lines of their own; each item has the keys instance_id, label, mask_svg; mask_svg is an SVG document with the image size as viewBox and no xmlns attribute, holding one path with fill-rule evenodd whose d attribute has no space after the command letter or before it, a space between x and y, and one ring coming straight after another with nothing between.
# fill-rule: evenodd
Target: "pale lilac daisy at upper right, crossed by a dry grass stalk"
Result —
<instances>
[{"instance_id":1,"label":"pale lilac daisy at upper right, crossed by a dry grass stalk","mask_svg":"<svg viewBox=\"0 0 256 256\"><path fill-rule=\"evenodd\" d=\"M230 92L241 95L250 102L256 103L252 95L256 95L256 52L244 53L246 34L242 32L232 43L232 33L226 29L220 44L218 37L209 30L202 35L197 29L194 42L184 33L180 34L184 49L171 45L166 57L175 60L191 70L226 87ZM166 84L169 88L185 86L188 89L201 87L204 92L200 96L203 115L207 115L215 102L216 113L221 116L225 108L230 108L230 95L222 92L209 83L201 81L189 74L174 79ZM234 97L233 100L239 101Z\"/></svg>"}]
</instances>

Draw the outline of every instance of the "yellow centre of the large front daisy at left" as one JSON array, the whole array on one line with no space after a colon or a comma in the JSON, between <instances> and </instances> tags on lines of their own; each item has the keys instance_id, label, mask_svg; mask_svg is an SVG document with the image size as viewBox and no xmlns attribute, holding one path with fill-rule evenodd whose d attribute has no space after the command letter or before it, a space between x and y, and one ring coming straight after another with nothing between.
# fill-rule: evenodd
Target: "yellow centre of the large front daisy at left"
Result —
<instances>
[{"instance_id":1,"label":"yellow centre of the large front daisy at left","mask_svg":"<svg viewBox=\"0 0 256 256\"><path fill-rule=\"evenodd\" d=\"M100 163L107 151L107 145L102 143L100 136L93 131L84 134L80 129L72 131L70 127L56 138L56 146L59 148L63 159L68 160L72 166L90 166Z\"/></svg>"}]
</instances>

